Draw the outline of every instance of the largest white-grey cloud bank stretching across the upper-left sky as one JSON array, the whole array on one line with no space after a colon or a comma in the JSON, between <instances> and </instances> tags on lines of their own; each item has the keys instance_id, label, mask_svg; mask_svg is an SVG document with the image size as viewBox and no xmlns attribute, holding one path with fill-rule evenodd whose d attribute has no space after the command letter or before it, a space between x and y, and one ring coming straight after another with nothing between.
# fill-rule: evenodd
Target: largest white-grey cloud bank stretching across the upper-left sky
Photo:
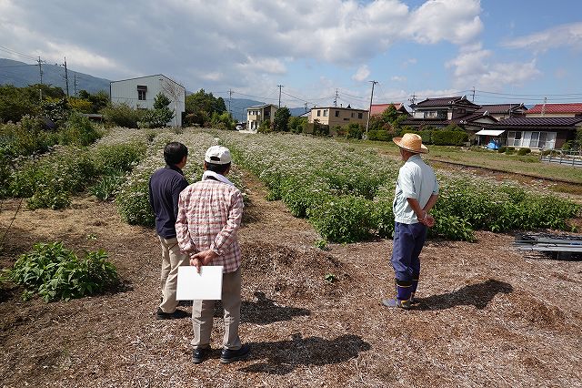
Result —
<instances>
[{"instance_id":1,"label":"largest white-grey cloud bank stretching across the upper-left sky","mask_svg":"<svg viewBox=\"0 0 582 388\"><path fill-rule=\"evenodd\" d=\"M191 89L252 90L298 61L345 69L395 42L466 45L483 28L477 0L416 8L404 0L55 0L42 11L36 3L0 0L3 42L31 56L66 56L96 77L165 73ZM369 76L364 67L353 79Z\"/></svg>"}]
</instances>

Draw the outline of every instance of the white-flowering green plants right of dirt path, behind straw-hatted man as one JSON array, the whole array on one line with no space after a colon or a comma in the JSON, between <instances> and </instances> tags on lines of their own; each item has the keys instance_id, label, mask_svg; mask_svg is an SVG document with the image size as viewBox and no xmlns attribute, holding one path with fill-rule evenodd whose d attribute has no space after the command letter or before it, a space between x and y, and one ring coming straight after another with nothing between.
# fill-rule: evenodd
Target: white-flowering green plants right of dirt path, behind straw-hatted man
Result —
<instances>
[{"instance_id":1,"label":"white-flowering green plants right of dirt path, behind straw-hatted man","mask_svg":"<svg viewBox=\"0 0 582 388\"><path fill-rule=\"evenodd\" d=\"M351 242L394 230L392 199L399 164L376 151L355 151L333 139L280 135L221 136L237 163L250 169L296 217L327 240ZM292 137L293 138L290 138ZM474 240L474 230L567 229L580 206L476 177L438 174L440 198L431 235Z\"/></svg>"}]
</instances>

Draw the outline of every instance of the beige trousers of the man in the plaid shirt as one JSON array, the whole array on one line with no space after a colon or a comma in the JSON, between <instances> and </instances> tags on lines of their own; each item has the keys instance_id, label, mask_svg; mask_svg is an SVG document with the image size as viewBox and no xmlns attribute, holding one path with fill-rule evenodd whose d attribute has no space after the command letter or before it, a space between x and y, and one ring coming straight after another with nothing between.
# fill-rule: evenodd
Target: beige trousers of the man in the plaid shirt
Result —
<instances>
[{"instance_id":1,"label":"beige trousers of the man in the plaid shirt","mask_svg":"<svg viewBox=\"0 0 582 388\"><path fill-rule=\"evenodd\" d=\"M237 350L241 348L238 337L240 322L240 267L234 272L222 275L222 306L225 309L225 335L222 345L224 349ZM206 348L210 344L215 301L194 301L192 303L192 326L194 328L195 348Z\"/></svg>"}]
</instances>

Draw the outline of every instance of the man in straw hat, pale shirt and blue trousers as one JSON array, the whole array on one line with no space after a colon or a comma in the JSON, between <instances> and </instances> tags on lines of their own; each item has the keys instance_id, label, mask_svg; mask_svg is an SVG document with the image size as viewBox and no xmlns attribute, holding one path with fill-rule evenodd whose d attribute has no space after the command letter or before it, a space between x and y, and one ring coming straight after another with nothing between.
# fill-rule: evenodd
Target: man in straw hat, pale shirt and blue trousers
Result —
<instances>
[{"instance_id":1,"label":"man in straw hat, pale shirt and blue trousers","mask_svg":"<svg viewBox=\"0 0 582 388\"><path fill-rule=\"evenodd\" d=\"M402 138L394 138L400 148L400 156L405 161L398 172L394 212L394 242L392 267L395 272L396 297L385 299L387 307L410 309L414 303L420 260L418 256L426 240L428 228L435 225L429 214L438 198L438 182L435 171L420 158L428 152L422 138L406 133Z\"/></svg>"}]
</instances>

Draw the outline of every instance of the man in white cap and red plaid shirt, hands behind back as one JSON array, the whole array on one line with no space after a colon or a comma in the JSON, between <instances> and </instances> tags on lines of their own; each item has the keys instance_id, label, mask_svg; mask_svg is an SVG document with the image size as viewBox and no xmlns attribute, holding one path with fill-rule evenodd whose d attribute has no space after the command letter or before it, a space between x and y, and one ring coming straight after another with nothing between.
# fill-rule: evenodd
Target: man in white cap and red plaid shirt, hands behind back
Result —
<instances>
[{"instance_id":1,"label":"man in white cap and red plaid shirt, hands behind back","mask_svg":"<svg viewBox=\"0 0 582 388\"><path fill-rule=\"evenodd\" d=\"M236 239L243 216L243 196L225 175L230 170L228 148L213 146L205 156L202 180L188 186L178 201L176 238L180 250L190 256L198 271L203 265L222 265L222 305L225 335L220 362L230 363L248 356L250 347L238 337L240 322L241 253ZM210 352L215 301L194 301L193 362L203 362Z\"/></svg>"}]
</instances>

